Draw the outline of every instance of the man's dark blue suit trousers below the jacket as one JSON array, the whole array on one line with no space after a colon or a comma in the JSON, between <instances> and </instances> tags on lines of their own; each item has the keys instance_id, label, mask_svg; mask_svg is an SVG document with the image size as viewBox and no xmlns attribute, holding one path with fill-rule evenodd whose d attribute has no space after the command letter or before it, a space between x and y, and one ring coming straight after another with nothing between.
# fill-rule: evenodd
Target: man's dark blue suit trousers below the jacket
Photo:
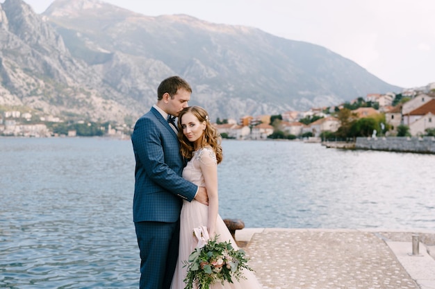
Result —
<instances>
[{"instance_id":1,"label":"man's dark blue suit trousers below the jacket","mask_svg":"<svg viewBox=\"0 0 435 289\"><path fill-rule=\"evenodd\" d=\"M179 252L180 220L135 222L140 289L170 289Z\"/></svg>"}]
</instances>

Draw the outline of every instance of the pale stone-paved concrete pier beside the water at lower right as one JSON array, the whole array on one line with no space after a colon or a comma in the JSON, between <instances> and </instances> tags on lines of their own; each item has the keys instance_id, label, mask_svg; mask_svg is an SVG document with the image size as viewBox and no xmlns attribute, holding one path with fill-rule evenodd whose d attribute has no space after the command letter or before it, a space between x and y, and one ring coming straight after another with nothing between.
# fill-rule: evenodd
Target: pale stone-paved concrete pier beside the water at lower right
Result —
<instances>
[{"instance_id":1,"label":"pale stone-paved concrete pier beside the water at lower right","mask_svg":"<svg viewBox=\"0 0 435 289\"><path fill-rule=\"evenodd\" d=\"M265 289L435 289L435 231L247 228L236 240Z\"/></svg>"}]
</instances>

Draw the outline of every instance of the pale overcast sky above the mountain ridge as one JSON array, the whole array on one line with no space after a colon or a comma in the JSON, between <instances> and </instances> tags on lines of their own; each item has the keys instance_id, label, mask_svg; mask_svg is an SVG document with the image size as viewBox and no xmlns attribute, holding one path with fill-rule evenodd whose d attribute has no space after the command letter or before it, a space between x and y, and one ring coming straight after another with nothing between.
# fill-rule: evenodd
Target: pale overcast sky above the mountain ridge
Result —
<instances>
[{"instance_id":1,"label":"pale overcast sky above the mountain ridge","mask_svg":"<svg viewBox=\"0 0 435 289\"><path fill-rule=\"evenodd\" d=\"M3 2L4 0L0 0ZM54 0L24 0L37 13ZM434 0L104 0L143 15L187 14L324 46L391 85L435 82Z\"/></svg>"}]
</instances>

